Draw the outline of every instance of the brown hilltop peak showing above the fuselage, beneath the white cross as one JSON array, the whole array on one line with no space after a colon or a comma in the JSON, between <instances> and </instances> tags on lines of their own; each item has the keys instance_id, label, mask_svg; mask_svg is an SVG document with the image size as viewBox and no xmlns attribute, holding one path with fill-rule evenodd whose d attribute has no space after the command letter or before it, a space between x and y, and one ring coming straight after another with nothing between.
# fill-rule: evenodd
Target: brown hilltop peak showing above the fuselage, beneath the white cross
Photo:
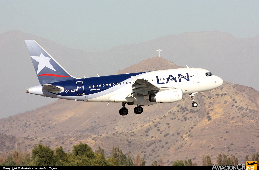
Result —
<instances>
[{"instance_id":1,"label":"brown hilltop peak showing above the fuselage, beneath the white cross","mask_svg":"<svg viewBox=\"0 0 259 170\"><path fill-rule=\"evenodd\" d=\"M131 65L130 67L127 67L123 70L120 70L116 74L166 70L166 69L173 69L173 68L183 68L183 67L177 66L176 64L162 57L153 57L153 58L148 58L146 60L143 60L138 64Z\"/></svg>"}]
</instances>

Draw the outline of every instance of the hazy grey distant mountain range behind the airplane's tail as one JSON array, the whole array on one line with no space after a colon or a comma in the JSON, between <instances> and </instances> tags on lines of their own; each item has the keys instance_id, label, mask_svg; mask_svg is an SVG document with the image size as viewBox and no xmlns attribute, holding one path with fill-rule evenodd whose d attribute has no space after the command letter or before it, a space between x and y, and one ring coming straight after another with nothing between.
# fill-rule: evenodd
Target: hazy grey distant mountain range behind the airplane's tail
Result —
<instances>
[{"instance_id":1,"label":"hazy grey distant mountain range behind the airplane's tail","mask_svg":"<svg viewBox=\"0 0 259 170\"><path fill-rule=\"evenodd\" d=\"M259 90L256 76L259 35L236 38L226 32L192 32L168 35L139 44L121 45L107 51L86 52L70 49L46 38L19 30L0 34L0 118L36 109L55 101L25 93L39 84L24 40L36 40L71 75L79 78L115 74L130 65L157 56L177 65L200 67L222 79ZM159 62L153 66L157 69ZM163 66L161 66L162 68ZM25 89L22 89L25 88ZM15 107L12 107L15 105Z\"/></svg>"}]
</instances>

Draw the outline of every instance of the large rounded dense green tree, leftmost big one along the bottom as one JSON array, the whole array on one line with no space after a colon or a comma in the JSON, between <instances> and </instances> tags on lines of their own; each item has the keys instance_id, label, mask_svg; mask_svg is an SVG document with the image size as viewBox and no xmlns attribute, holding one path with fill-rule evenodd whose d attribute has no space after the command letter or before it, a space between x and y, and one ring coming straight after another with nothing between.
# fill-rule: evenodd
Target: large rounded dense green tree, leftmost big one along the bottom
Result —
<instances>
[{"instance_id":1,"label":"large rounded dense green tree, leftmost big one along the bottom","mask_svg":"<svg viewBox=\"0 0 259 170\"><path fill-rule=\"evenodd\" d=\"M29 166L54 166L56 159L54 158L54 151L42 144L35 144L32 149L32 161Z\"/></svg>"}]
</instances>

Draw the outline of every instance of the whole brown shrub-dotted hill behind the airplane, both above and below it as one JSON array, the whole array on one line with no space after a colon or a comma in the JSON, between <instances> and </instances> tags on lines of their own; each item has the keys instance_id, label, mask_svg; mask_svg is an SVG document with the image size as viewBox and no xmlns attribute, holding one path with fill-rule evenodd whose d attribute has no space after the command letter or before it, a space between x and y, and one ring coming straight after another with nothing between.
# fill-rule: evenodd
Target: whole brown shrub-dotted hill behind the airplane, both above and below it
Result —
<instances>
[{"instance_id":1,"label":"whole brown shrub-dotted hill behind the airplane, both above and below it","mask_svg":"<svg viewBox=\"0 0 259 170\"><path fill-rule=\"evenodd\" d=\"M120 72L135 72L140 66L149 71L154 64L164 69L179 67L154 57ZM215 163L220 153L233 154L243 163L245 155L259 151L258 95L253 88L225 81L217 89L197 94L196 108L191 106L190 97L184 95L176 103L143 106L142 114L135 114L134 106L126 105L126 116L118 113L121 103L59 99L1 119L0 133L15 136L16 148L26 151L40 142L52 149L62 145L68 152L74 144L84 142L93 150L100 145L107 157L117 146L124 153L131 152L132 157L139 152L146 165L159 158L165 165L176 159L192 159L201 165L202 156L207 154Z\"/></svg>"}]
</instances>

